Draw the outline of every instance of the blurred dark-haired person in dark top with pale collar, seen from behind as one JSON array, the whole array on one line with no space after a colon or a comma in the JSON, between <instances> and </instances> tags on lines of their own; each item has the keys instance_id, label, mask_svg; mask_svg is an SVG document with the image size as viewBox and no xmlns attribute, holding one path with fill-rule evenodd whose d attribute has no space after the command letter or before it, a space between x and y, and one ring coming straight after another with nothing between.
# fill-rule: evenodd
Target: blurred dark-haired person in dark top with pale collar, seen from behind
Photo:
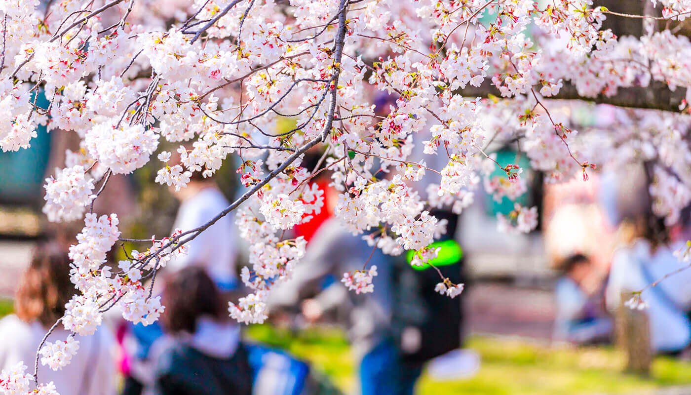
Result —
<instances>
[{"instance_id":1,"label":"blurred dark-haired person in dark top with pale collar, seen from behind","mask_svg":"<svg viewBox=\"0 0 691 395\"><path fill-rule=\"evenodd\" d=\"M252 371L223 299L200 266L182 268L165 280L167 335L151 347L156 395L249 395ZM148 389L146 391L149 393Z\"/></svg>"}]
</instances>

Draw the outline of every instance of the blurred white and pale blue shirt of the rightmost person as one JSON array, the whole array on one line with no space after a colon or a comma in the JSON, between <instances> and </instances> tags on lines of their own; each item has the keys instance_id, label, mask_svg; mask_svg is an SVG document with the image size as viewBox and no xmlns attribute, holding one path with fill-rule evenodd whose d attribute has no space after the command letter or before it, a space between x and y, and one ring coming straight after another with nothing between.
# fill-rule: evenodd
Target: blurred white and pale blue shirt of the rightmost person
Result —
<instances>
[{"instance_id":1,"label":"blurred white and pale blue shirt of the rightmost person","mask_svg":"<svg viewBox=\"0 0 691 395\"><path fill-rule=\"evenodd\" d=\"M675 247L661 246L651 255L647 241L638 240L630 248L617 250L605 295L607 307L616 309L621 291L640 291L668 273L687 266L672 255ZM688 284L691 284L691 270L683 270L641 294L648 306L645 312L650 320L650 338L655 351L680 350L691 340L691 322L686 316L691 306Z\"/></svg>"}]
</instances>

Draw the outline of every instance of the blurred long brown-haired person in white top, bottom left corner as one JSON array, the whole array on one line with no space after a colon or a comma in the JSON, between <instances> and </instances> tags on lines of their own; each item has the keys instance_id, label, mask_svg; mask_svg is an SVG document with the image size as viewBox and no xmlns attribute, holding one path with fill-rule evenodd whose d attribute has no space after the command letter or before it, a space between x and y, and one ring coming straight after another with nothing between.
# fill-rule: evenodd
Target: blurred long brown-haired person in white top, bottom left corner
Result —
<instances>
[{"instance_id":1,"label":"blurred long brown-haired person in white top, bottom left corner","mask_svg":"<svg viewBox=\"0 0 691 395\"><path fill-rule=\"evenodd\" d=\"M70 282L70 259L57 244L41 245L19 280L15 314L0 320L0 369L19 361L33 373L37 348L50 327L65 313L65 304L77 292ZM46 339L65 341L70 332L58 324ZM39 363L39 383L53 381L61 395L108 395L115 393L115 342L102 325L91 336L74 335L79 351L69 365L54 371Z\"/></svg>"}]
</instances>

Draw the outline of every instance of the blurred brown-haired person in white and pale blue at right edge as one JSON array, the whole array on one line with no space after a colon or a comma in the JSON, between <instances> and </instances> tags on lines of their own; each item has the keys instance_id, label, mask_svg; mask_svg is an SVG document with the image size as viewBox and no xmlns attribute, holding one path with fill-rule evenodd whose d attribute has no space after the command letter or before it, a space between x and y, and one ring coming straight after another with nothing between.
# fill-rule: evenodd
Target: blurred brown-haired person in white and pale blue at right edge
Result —
<instances>
[{"instance_id":1,"label":"blurred brown-haired person in white and pale blue at right edge","mask_svg":"<svg viewBox=\"0 0 691 395\"><path fill-rule=\"evenodd\" d=\"M688 264L679 261L673 252L684 241L670 241L662 221L648 213L647 217L641 215L624 223L623 228L633 236L614 252L606 300L611 311L627 308L622 293L643 291L640 297L647 306L643 311L650 326L650 347L656 353L678 355L691 341L691 271L683 270Z\"/></svg>"}]
</instances>

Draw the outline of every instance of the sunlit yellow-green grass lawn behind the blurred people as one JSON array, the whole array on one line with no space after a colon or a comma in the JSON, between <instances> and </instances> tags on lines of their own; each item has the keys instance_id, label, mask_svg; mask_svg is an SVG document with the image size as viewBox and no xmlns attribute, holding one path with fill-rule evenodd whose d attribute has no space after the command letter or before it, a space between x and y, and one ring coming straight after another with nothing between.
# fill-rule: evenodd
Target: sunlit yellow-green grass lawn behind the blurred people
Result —
<instances>
[{"instance_id":1,"label":"sunlit yellow-green grass lawn behind the blurred people","mask_svg":"<svg viewBox=\"0 0 691 395\"><path fill-rule=\"evenodd\" d=\"M344 391L354 387L356 371L348 342L337 329L291 333L269 325L249 328L256 340L287 349L312 362ZM640 394L671 385L691 385L691 363L654 360L650 378L623 374L624 357L611 347L553 349L520 340L473 336L468 348L480 353L482 366L473 378L435 381L423 376L418 394Z\"/></svg>"}]
</instances>

